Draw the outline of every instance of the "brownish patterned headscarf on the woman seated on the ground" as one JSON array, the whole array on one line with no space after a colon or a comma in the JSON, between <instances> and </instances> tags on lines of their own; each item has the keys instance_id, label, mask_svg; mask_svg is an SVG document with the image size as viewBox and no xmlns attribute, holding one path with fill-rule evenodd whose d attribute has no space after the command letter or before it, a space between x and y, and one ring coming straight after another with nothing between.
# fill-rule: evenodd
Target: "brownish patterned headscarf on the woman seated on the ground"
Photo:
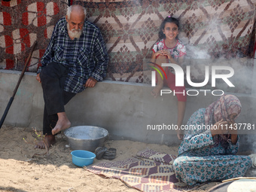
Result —
<instances>
[{"instance_id":1,"label":"brownish patterned headscarf on the woman seated on the ground","mask_svg":"<svg viewBox=\"0 0 256 192\"><path fill-rule=\"evenodd\" d=\"M230 114L237 114L235 119L239 116L242 110L242 105L239 99L233 95L221 96L216 102L213 102L206 108L205 120L206 125L214 125L221 119L224 121L230 121ZM234 120L235 120L234 119ZM223 145L227 145L227 139L229 135L218 135L214 137L215 144L221 142Z\"/></svg>"}]
</instances>

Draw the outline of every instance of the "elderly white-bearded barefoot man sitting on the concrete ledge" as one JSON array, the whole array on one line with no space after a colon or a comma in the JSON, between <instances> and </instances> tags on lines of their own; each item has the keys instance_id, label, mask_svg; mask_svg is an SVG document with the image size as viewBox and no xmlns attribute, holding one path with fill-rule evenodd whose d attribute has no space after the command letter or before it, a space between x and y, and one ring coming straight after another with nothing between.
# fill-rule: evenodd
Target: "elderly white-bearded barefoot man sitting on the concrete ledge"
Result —
<instances>
[{"instance_id":1,"label":"elderly white-bearded barefoot man sitting on the concrete ledge","mask_svg":"<svg viewBox=\"0 0 256 192\"><path fill-rule=\"evenodd\" d=\"M41 58L42 66L36 78L44 93L43 133L48 147L56 142L56 133L71 125L64 105L106 75L105 43L99 29L85 18L84 7L69 7L66 18L56 23ZM44 142L38 142L35 148L45 148Z\"/></svg>"}]
</instances>

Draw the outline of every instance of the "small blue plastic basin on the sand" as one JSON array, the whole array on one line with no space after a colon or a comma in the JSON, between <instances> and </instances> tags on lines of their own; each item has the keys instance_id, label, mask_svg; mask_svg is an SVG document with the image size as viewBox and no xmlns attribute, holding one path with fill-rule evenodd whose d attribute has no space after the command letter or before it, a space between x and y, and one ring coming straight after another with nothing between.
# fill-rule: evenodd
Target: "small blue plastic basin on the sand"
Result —
<instances>
[{"instance_id":1,"label":"small blue plastic basin on the sand","mask_svg":"<svg viewBox=\"0 0 256 192\"><path fill-rule=\"evenodd\" d=\"M75 150L72 151L71 154L72 163L74 163L76 166L89 166L93 163L93 160L96 157L93 152L84 150Z\"/></svg>"}]
</instances>

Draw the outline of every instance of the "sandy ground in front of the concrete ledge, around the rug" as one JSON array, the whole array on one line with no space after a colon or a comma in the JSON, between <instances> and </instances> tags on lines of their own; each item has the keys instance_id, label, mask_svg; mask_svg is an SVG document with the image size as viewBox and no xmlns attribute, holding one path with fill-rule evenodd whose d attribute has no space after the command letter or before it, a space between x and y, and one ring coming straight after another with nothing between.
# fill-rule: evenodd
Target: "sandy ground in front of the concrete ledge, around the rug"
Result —
<instances>
[{"instance_id":1,"label":"sandy ground in front of the concrete ledge, around the rug","mask_svg":"<svg viewBox=\"0 0 256 192\"><path fill-rule=\"evenodd\" d=\"M126 186L122 181L103 178L72 163L71 148L65 136L58 135L56 145L46 151L35 149L35 132L28 128L2 126L0 130L0 191L139 191ZM177 154L178 146L146 144L142 142L107 141L107 148L117 148L115 160L136 156L145 148ZM94 160L99 163L102 160ZM205 184L193 191L206 191L218 184Z\"/></svg>"}]
</instances>

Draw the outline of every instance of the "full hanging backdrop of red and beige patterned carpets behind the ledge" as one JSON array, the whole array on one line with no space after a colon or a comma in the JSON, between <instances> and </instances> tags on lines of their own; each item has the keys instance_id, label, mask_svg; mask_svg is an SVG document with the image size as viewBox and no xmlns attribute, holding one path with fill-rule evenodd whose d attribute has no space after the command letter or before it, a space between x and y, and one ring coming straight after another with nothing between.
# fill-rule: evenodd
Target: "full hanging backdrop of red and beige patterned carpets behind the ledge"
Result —
<instances>
[{"instance_id":1,"label":"full hanging backdrop of red and beige patterned carpets behind the ledge","mask_svg":"<svg viewBox=\"0 0 256 192\"><path fill-rule=\"evenodd\" d=\"M29 47L37 39L34 66L29 68L35 72L66 5L57 0L1 3L0 67L22 69ZM110 56L107 79L113 81L147 81L142 75L143 60L151 57L160 23L169 15L181 21L179 38L187 45L187 58L244 58L253 53L255 0L80 0L73 4L86 7L87 20L101 29ZM192 78L203 77L198 69Z\"/></svg>"}]
</instances>

